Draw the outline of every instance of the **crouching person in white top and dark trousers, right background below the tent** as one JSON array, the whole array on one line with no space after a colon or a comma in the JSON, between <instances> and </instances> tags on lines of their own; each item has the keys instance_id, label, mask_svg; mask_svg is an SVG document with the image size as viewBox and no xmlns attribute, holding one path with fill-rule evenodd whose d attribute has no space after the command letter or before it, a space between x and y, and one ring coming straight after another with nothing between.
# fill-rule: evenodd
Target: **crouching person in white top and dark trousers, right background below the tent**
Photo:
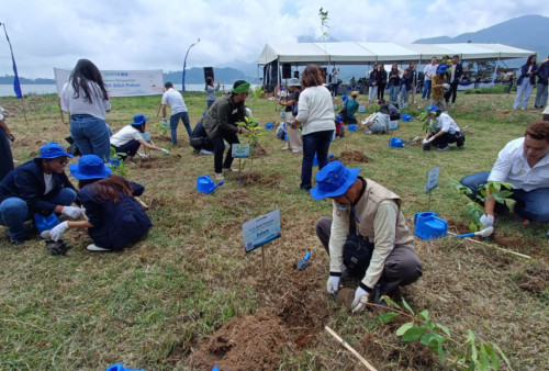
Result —
<instances>
[{"instance_id":1,"label":"crouching person in white top and dark trousers, right background below the tent","mask_svg":"<svg viewBox=\"0 0 549 371\"><path fill-rule=\"evenodd\" d=\"M423 139L423 150L430 150L430 146L436 146L438 150L450 150L450 143L456 143L458 147L463 147L466 144L466 135L461 133L458 124L453 121L448 112L440 111L436 105L430 104L425 109L425 119L435 124L434 134L427 130L427 134Z\"/></svg>"}]
</instances>

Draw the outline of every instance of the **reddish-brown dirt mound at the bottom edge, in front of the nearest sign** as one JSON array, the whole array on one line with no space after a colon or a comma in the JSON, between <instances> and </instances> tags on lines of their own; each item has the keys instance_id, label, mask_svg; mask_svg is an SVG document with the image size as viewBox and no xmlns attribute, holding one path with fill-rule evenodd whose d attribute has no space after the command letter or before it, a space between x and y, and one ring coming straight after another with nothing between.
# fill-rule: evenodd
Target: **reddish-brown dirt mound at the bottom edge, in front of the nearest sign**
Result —
<instances>
[{"instance_id":1,"label":"reddish-brown dirt mound at the bottom edge, in front of the nearest sign","mask_svg":"<svg viewBox=\"0 0 549 371\"><path fill-rule=\"evenodd\" d=\"M273 370L287 348L288 329L274 314L233 318L192 355L191 362L211 370Z\"/></svg>"}]
</instances>

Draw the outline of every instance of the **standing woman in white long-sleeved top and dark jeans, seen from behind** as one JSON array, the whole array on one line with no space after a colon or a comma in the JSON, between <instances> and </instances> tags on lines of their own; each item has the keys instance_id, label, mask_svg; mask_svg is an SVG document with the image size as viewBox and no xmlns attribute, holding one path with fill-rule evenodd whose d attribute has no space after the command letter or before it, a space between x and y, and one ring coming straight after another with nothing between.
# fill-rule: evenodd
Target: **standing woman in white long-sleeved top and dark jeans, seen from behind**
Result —
<instances>
[{"instance_id":1,"label":"standing woman in white long-sleeved top and dark jeans, seen from behind","mask_svg":"<svg viewBox=\"0 0 549 371\"><path fill-rule=\"evenodd\" d=\"M328 164L328 151L336 125L334 123L334 103L326 87L322 70L316 65L309 65L302 74L302 92L298 116L291 123L292 128L302 125L303 160L301 165L300 188L310 190L313 178L313 160L316 154L318 170Z\"/></svg>"}]
</instances>

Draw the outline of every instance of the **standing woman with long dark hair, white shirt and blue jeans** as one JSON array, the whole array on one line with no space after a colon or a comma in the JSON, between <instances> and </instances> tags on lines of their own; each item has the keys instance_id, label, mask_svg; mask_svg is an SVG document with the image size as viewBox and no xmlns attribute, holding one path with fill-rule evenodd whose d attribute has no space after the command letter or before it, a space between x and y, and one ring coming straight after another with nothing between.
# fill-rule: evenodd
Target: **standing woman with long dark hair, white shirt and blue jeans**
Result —
<instances>
[{"instance_id":1,"label":"standing woman with long dark hair, white shirt and blue jeans","mask_svg":"<svg viewBox=\"0 0 549 371\"><path fill-rule=\"evenodd\" d=\"M61 110L70 114L70 136L82 155L109 160L109 132L105 126L111 101L101 72L88 59L80 59L60 94Z\"/></svg>"}]
</instances>

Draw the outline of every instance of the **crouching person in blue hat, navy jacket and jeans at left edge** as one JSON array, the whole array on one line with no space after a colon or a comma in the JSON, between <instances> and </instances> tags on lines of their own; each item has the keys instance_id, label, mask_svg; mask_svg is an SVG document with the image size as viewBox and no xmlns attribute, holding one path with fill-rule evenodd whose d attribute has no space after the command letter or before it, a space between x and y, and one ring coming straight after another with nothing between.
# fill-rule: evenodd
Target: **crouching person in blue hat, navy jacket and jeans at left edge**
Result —
<instances>
[{"instance_id":1,"label":"crouching person in blue hat, navy jacket and jeans at left edge","mask_svg":"<svg viewBox=\"0 0 549 371\"><path fill-rule=\"evenodd\" d=\"M13 245L26 239L25 221L35 213L65 214L78 218L80 207L70 206L78 193L64 169L72 157L61 146L49 142L40 156L8 173L0 184L0 224L8 227Z\"/></svg>"}]
</instances>

